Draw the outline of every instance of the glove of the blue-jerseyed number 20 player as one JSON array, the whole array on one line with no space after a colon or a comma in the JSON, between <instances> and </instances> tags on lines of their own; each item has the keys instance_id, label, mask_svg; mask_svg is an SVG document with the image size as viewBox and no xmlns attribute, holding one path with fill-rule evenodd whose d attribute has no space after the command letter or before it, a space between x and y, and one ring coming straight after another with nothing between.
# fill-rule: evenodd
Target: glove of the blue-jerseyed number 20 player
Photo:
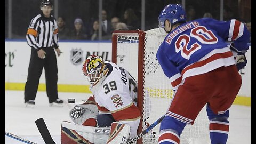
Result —
<instances>
[{"instance_id":1,"label":"glove of the blue-jerseyed number 20 player","mask_svg":"<svg viewBox=\"0 0 256 144\"><path fill-rule=\"evenodd\" d=\"M235 48L234 43L230 43L230 50L234 55L234 58L236 60L236 67L238 70L244 68L247 65L247 59L245 57L245 52L238 52L238 50Z\"/></svg>"}]
</instances>

